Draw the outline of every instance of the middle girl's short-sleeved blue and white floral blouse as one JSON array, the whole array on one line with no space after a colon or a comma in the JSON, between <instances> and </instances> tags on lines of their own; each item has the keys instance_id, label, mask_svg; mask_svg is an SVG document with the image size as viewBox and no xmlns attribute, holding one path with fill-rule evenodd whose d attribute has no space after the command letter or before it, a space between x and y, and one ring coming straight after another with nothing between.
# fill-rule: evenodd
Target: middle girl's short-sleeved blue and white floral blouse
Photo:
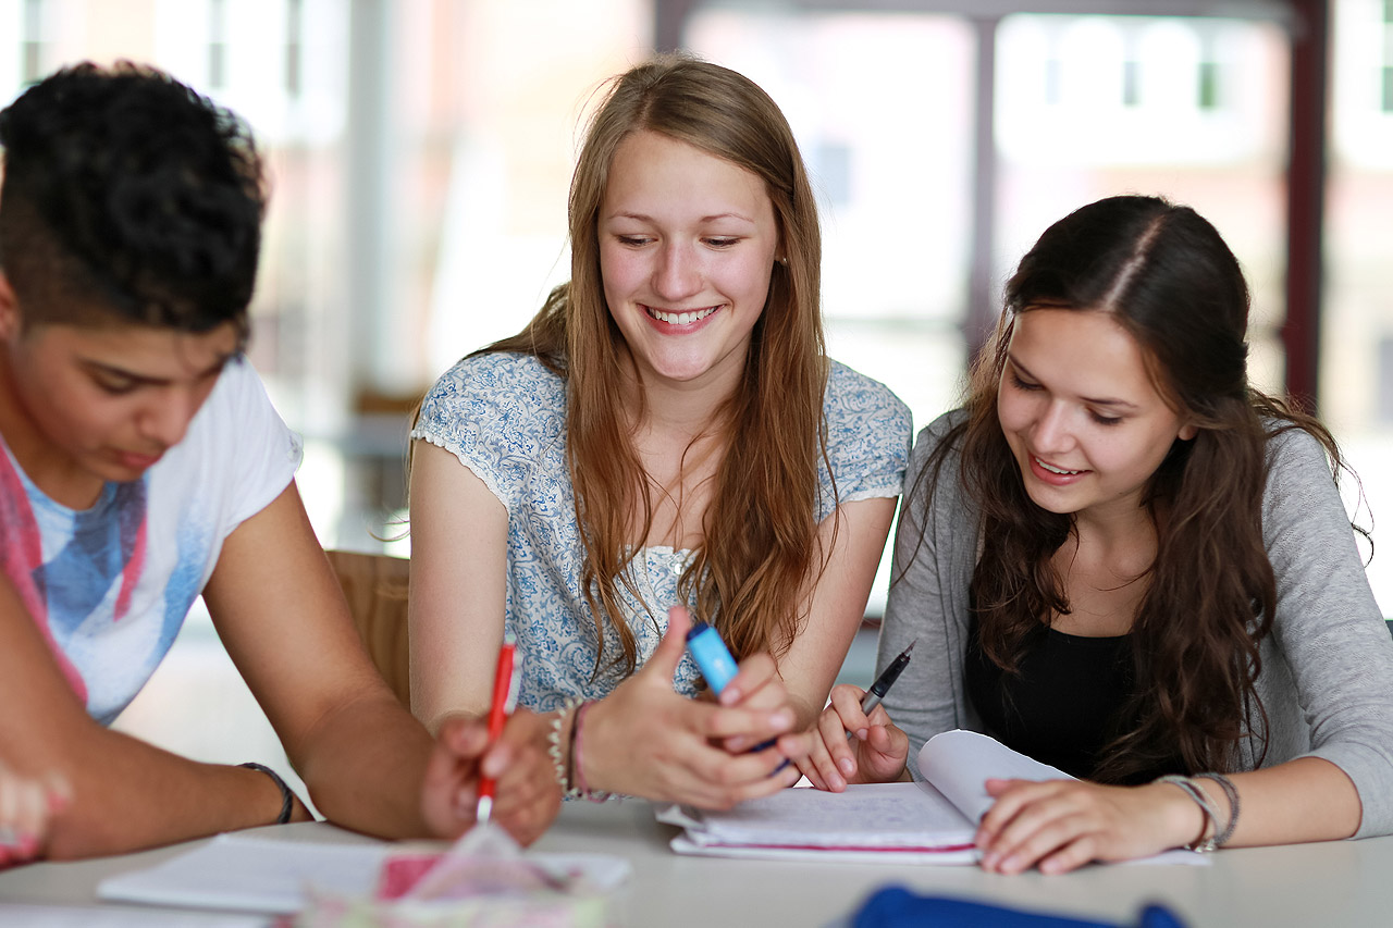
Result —
<instances>
[{"instance_id":1,"label":"middle girl's short-sleeved blue and white floral blouse","mask_svg":"<svg viewBox=\"0 0 1393 928\"><path fill-rule=\"evenodd\" d=\"M823 405L827 457L841 503L897 496L910 451L910 410L883 385L833 362ZM571 695L607 695L621 670L595 669L595 621L581 591L585 549L566 465L566 383L536 358L485 354L456 364L432 387L411 432L451 451L508 511L506 628L524 655L518 701L538 712ZM832 481L819 467L818 520L834 509ZM678 602L677 580L690 550L646 548L631 569L639 601L624 585L623 620L638 662L653 654ZM606 665L623 654L605 630ZM674 687L692 694L696 665L684 656Z\"/></svg>"}]
</instances>

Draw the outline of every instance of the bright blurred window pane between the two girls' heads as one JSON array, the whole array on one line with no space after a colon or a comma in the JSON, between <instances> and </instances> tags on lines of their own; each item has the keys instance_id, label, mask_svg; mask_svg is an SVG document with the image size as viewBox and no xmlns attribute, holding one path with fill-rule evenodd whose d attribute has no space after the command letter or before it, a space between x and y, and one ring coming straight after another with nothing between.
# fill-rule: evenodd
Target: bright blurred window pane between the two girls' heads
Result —
<instances>
[{"instance_id":1,"label":"bright blurred window pane between the two girls' heads","mask_svg":"<svg viewBox=\"0 0 1393 928\"><path fill-rule=\"evenodd\" d=\"M758 82L788 117L822 210L829 351L887 383L926 425L953 405L965 351L970 24L713 7L692 17L685 40Z\"/></svg>"}]
</instances>

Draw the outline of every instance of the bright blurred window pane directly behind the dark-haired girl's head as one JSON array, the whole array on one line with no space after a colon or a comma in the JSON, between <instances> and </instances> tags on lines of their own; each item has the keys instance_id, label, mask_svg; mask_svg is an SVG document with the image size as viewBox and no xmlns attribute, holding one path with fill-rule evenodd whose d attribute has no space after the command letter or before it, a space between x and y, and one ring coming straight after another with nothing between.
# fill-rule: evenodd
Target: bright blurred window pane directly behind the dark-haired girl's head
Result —
<instances>
[{"instance_id":1,"label":"bright blurred window pane directly behind the dark-haired girl's head","mask_svg":"<svg viewBox=\"0 0 1393 928\"><path fill-rule=\"evenodd\" d=\"M1282 390L1287 40L1275 24L1011 15L997 33L996 279L1056 219L1160 194L1215 223L1254 295L1254 379Z\"/></svg>"}]
</instances>

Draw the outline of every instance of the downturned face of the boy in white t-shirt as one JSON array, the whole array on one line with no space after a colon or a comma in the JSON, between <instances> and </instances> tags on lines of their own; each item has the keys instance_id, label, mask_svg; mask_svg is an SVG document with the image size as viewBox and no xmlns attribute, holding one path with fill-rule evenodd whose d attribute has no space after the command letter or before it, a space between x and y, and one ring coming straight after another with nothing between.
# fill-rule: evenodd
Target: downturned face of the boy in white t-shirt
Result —
<instances>
[{"instance_id":1,"label":"downturned face of the boy in white t-shirt","mask_svg":"<svg viewBox=\"0 0 1393 928\"><path fill-rule=\"evenodd\" d=\"M0 431L29 478L74 509L178 443L238 350L233 323L25 327L13 298L0 304Z\"/></svg>"}]
</instances>

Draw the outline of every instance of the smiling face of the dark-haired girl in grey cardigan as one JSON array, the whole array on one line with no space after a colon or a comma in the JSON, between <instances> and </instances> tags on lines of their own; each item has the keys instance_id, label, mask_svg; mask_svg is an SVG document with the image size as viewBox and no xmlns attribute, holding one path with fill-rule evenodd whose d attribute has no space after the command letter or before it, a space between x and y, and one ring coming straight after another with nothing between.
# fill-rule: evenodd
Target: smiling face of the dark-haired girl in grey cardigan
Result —
<instances>
[{"instance_id":1,"label":"smiling face of the dark-haired girl in grey cardigan","mask_svg":"<svg viewBox=\"0 0 1393 928\"><path fill-rule=\"evenodd\" d=\"M1021 312L996 411L1031 499L1088 518L1135 517L1174 440L1195 435L1106 312Z\"/></svg>"}]
</instances>

